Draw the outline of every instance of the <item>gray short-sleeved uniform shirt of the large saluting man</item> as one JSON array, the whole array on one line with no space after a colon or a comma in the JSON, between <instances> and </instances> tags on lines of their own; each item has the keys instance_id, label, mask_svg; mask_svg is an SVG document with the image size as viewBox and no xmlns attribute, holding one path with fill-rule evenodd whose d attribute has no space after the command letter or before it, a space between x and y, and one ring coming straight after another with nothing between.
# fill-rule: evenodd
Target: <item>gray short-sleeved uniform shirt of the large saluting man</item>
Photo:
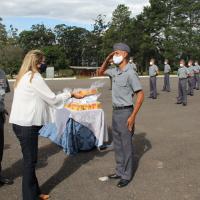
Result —
<instances>
[{"instance_id":1,"label":"gray short-sleeved uniform shirt of the large saluting man","mask_svg":"<svg viewBox=\"0 0 200 200\"><path fill-rule=\"evenodd\" d=\"M108 69L105 74L112 77L112 102L113 106L133 105L133 94L142 90L137 73L130 64L123 71L116 67Z\"/></svg>"}]
</instances>

